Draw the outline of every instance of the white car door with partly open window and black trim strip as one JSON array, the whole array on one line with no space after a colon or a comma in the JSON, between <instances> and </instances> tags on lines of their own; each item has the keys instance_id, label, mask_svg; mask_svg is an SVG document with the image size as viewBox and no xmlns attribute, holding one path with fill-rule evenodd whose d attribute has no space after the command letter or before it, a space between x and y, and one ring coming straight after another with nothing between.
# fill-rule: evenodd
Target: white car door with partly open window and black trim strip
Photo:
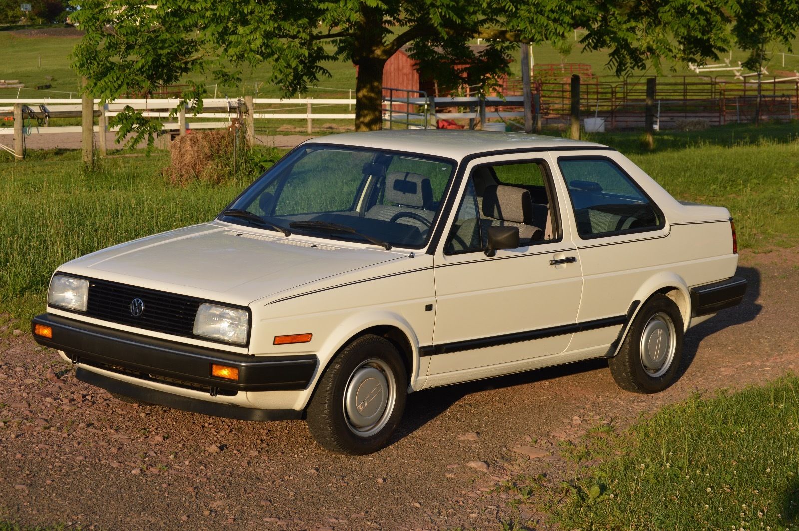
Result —
<instances>
[{"instance_id":1,"label":"white car door with partly open window and black trim strip","mask_svg":"<svg viewBox=\"0 0 799 531\"><path fill-rule=\"evenodd\" d=\"M565 190L549 158L479 158L463 175L435 250L434 344L423 349L431 356L428 385L513 372L561 353L582 293L571 224L561 217ZM518 249L487 256L487 228L496 225L519 227Z\"/></svg>"}]
</instances>

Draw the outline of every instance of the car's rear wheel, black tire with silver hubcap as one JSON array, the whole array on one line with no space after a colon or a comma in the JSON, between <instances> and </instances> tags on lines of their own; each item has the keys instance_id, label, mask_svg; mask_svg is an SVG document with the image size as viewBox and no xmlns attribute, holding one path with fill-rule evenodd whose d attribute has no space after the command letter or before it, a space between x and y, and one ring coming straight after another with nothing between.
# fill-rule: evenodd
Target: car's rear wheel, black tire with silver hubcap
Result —
<instances>
[{"instance_id":1,"label":"car's rear wheel, black tire with silver hubcap","mask_svg":"<svg viewBox=\"0 0 799 531\"><path fill-rule=\"evenodd\" d=\"M665 336L669 341L664 349ZM682 365L682 337L677 305L666 295L654 294L635 316L618 354L608 360L618 386L633 393L658 393L673 384Z\"/></svg>"}]
</instances>

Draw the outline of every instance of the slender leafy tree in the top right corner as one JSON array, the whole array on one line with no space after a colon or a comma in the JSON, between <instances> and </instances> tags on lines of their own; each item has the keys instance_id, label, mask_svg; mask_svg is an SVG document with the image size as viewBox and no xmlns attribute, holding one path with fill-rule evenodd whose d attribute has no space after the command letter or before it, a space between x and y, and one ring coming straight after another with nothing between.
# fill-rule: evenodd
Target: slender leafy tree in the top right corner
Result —
<instances>
[{"instance_id":1,"label":"slender leafy tree in the top right corner","mask_svg":"<svg viewBox=\"0 0 799 531\"><path fill-rule=\"evenodd\" d=\"M769 46L779 43L791 51L791 40L799 26L799 3L784 0L749 0L741 2L733 35L737 46L749 52L743 62L749 70L757 72L757 104L754 122L760 124L761 78L769 64Z\"/></svg>"}]
</instances>

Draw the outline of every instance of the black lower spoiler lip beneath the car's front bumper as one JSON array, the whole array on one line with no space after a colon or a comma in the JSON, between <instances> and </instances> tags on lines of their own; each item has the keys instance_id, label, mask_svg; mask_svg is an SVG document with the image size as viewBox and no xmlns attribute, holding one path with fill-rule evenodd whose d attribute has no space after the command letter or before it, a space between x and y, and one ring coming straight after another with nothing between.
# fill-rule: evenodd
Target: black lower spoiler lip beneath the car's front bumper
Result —
<instances>
[{"instance_id":1,"label":"black lower spoiler lip beneath the car's front bumper","mask_svg":"<svg viewBox=\"0 0 799 531\"><path fill-rule=\"evenodd\" d=\"M165 393L164 391L149 389L149 387L141 387L141 385L134 385L127 381L107 377L103 374L93 373L89 370L81 369L81 367L78 367L75 376L80 381L96 385L111 393L119 393L125 395L125 397L135 398L143 402L165 405L166 407L192 413L212 415L213 417L235 418L240 421L285 421L302 418L303 416L303 412L296 409L252 409L221 402L183 397L179 394Z\"/></svg>"}]
</instances>

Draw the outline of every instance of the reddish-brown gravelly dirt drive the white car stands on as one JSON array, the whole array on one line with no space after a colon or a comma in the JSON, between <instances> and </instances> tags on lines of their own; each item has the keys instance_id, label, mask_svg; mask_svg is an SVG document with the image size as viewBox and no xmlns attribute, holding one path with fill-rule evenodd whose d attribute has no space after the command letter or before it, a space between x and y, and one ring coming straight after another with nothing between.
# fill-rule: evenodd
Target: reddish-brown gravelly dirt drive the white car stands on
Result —
<instances>
[{"instance_id":1,"label":"reddish-brown gravelly dirt drive the white car stands on","mask_svg":"<svg viewBox=\"0 0 799 531\"><path fill-rule=\"evenodd\" d=\"M365 457L320 449L302 421L117 401L12 323L0 338L0 517L89 529L498 529L511 509L491 489L517 473L562 474L560 439L797 369L799 252L744 253L738 274L745 303L689 331L690 365L662 393L623 392L602 360L431 389L411 394L392 444ZM551 529L535 500L525 510L530 529Z\"/></svg>"}]
</instances>

